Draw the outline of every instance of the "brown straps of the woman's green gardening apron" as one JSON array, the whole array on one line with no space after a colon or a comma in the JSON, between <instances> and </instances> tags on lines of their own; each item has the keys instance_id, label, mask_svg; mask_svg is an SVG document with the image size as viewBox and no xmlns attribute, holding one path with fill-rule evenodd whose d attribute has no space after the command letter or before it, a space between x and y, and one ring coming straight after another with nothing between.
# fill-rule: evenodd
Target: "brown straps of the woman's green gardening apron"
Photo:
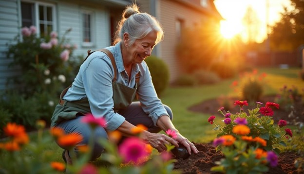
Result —
<instances>
[{"instance_id":1,"label":"brown straps of the woman's green gardening apron","mask_svg":"<svg viewBox=\"0 0 304 174\"><path fill-rule=\"evenodd\" d=\"M95 51L91 52L92 50L88 50L87 53L88 53L88 56L83 60L83 62L92 54L94 53ZM111 51L103 48L103 49L100 49L100 50L97 50L97 51L101 51L103 53L105 53L110 59L111 59L111 62L112 62L112 66L114 67L114 79L113 81L116 81L117 79L117 70L116 70L116 63L115 63L115 59L113 57L113 54L111 53ZM82 63L83 63L82 62ZM138 73L139 74L139 73ZM138 78L139 80L139 78ZM136 82L137 82L137 75L136 75ZM61 94L60 94L60 99L59 99L59 104L60 105L63 105L64 103L64 100L62 99L64 97L64 95L67 93L67 91L69 90L69 88L72 86L72 84L70 84L70 86L68 86L67 88L65 88Z\"/></svg>"}]
</instances>

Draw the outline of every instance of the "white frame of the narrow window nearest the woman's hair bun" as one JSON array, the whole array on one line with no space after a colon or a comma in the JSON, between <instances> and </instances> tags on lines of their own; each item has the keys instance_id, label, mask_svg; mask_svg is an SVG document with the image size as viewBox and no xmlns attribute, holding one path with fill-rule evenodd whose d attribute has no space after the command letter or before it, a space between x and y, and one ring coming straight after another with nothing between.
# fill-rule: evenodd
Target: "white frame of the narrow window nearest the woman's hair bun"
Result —
<instances>
[{"instance_id":1,"label":"white frame of the narrow window nearest the woman's hair bun","mask_svg":"<svg viewBox=\"0 0 304 174\"><path fill-rule=\"evenodd\" d=\"M90 37L90 42L85 42L84 41L84 18L83 18L83 15L84 14L86 14L86 15L90 15L90 35L91 35L91 37ZM95 30L94 30L94 28L95 28L95 14L94 14L94 11L92 11L92 10L87 10L87 9L82 9L81 11L80 11L80 18L81 18L81 45L83 46L83 47L92 47L92 46L94 46L94 43L95 43Z\"/></svg>"}]
</instances>

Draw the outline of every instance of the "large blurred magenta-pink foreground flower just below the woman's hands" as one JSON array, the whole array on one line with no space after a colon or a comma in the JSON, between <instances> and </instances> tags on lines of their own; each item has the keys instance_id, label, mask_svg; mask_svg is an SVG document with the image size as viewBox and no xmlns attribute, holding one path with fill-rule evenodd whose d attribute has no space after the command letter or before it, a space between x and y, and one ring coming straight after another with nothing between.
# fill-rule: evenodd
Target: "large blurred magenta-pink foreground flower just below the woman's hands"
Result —
<instances>
[{"instance_id":1,"label":"large blurred magenta-pink foreground flower just below the woman's hands","mask_svg":"<svg viewBox=\"0 0 304 174\"><path fill-rule=\"evenodd\" d=\"M146 150L146 144L138 137L125 139L118 147L118 152L125 162L143 162L150 154Z\"/></svg>"}]
</instances>

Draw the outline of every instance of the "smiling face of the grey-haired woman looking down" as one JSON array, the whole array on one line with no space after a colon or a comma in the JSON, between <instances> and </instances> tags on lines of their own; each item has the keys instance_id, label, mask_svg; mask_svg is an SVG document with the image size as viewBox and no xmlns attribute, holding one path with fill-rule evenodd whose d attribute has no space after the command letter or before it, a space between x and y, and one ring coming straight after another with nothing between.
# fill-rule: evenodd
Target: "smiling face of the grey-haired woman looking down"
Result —
<instances>
[{"instance_id":1,"label":"smiling face of the grey-haired woman looking down","mask_svg":"<svg viewBox=\"0 0 304 174\"><path fill-rule=\"evenodd\" d=\"M157 32L155 31L151 31L142 39L136 39L133 45L128 47L129 54L132 56L132 63L141 63L145 58L151 56L156 39Z\"/></svg>"}]
</instances>

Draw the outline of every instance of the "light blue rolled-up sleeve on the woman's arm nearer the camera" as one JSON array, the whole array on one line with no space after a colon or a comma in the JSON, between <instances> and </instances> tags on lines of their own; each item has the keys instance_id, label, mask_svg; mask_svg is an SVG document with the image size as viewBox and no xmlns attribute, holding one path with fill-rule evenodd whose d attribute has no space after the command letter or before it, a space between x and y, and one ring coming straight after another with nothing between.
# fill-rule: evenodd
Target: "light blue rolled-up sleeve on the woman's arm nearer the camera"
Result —
<instances>
[{"instance_id":1,"label":"light blue rolled-up sleeve on the woman's arm nearer the camera","mask_svg":"<svg viewBox=\"0 0 304 174\"><path fill-rule=\"evenodd\" d=\"M82 71L84 90L92 114L95 117L104 117L107 121L107 129L113 131L125 121L125 117L114 113L113 110L114 68L110 58L104 53L93 53L92 56L93 58L85 63Z\"/></svg>"}]
</instances>

